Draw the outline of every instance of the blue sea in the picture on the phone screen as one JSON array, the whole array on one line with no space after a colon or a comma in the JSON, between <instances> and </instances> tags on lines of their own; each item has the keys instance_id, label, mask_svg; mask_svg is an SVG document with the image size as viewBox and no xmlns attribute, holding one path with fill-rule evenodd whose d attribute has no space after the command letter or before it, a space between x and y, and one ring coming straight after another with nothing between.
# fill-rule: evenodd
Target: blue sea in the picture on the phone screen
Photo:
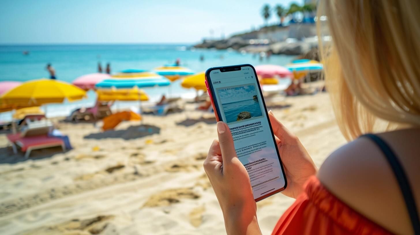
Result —
<instances>
[{"instance_id":1,"label":"blue sea in the picture on the phone screen","mask_svg":"<svg viewBox=\"0 0 420 235\"><path fill-rule=\"evenodd\" d=\"M223 113L225 114L226 122L236 122L240 112L250 112L251 118L262 116L260 103L254 99L241 100L222 104Z\"/></svg>"}]
</instances>

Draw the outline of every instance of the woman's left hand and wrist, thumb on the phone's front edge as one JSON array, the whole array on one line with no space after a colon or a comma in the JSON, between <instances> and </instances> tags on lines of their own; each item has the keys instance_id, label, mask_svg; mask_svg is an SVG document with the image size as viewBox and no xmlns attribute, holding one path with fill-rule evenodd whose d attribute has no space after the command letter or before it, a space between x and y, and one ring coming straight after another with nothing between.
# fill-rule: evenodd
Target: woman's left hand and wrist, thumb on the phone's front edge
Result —
<instances>
[{"instance_id":1,"label":"woman's left hand and wrist, thumb on the phone's front edge","mask_svg":"<svg viewBox=\"0 0 420 235\"><path fill-rule=\"evenodd\" d=\"M261 234L257 222L257 204L248 172L236 157L228 125L217 123L219 140L210 146L204 170L223 211L227 234Z\"/></svg>"}]
</instances>

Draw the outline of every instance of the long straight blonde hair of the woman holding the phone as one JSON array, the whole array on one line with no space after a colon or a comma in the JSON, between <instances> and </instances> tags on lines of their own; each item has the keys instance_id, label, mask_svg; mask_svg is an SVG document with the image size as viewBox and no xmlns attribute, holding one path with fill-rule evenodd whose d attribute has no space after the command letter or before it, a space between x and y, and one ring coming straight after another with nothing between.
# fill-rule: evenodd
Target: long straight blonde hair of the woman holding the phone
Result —
<instances>
[{"instance_id":1,"label":"long straight blonde hair of the woman holding the phone","mask_svg":"<svg viewBox=\"0 0 420 235\"><path fill-rule=\"evenodd\" d=\"M321 0L326 85L347 140L420 126L419 12L417 0Z\"/></svg>"}]
</instances>

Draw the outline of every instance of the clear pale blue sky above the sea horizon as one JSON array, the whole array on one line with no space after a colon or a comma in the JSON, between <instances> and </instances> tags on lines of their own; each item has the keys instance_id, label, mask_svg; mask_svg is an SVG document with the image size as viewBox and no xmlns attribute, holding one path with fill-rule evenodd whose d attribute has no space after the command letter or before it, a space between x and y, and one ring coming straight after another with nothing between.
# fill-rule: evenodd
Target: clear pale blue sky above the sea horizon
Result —
<instances>
[{"instance_id":1,"label":"clear pale blue sky above the sea horizon","mask_svg":"<svg viewBox=\"0 0 420 235\"><path fill-rule=\"evenodd\" d=\"M303 0L0 0L0 44L194 43L259 28L264 4L294 2Z\"/></svg>"}]
</instances>

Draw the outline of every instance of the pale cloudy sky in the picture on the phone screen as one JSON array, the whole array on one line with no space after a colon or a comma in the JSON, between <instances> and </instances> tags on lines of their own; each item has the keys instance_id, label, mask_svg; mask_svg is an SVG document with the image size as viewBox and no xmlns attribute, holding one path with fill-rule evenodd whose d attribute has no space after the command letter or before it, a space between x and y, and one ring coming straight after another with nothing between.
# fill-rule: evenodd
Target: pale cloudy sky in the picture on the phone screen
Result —
<instances>
[{"instance_id":1,"label":"pale cloudy sky in the picture on the phone screen","mask_svg":"<svg viewBox=\"0 0 420 235\"><path fill-rule=\"evenodd\" d=\"M217 92L222 104L252 99L257 94L253 85L218 89Z\"/></svg>"}]
</instances>

